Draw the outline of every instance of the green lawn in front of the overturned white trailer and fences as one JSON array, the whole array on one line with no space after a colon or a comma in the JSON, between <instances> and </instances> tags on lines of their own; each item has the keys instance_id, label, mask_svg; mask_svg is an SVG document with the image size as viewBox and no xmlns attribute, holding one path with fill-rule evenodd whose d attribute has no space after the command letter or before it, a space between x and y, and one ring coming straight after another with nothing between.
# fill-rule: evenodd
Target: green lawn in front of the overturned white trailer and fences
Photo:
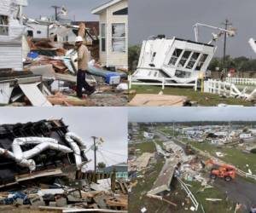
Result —
<instances>
[{"instance_id":1,"label":"green lawn in front of the overturned white trailer and fences","mask_svg":"<svg viewBox=\"0 0 256 213\"><path fill-rule=\"evenodd\" d=\"M132 89L137 90L137 94L158 94L161 91L161 87L158 86L133 86ZM171 88L166 87L163 90L164 95L183 95L187 96L189 101L196 101L200 106L217 106L219 103L229 104L229 105L243 105L243 106L253 106L252 103L243 101L236 98L223 98L216 94L201 93L200 91L195 91L191 88ZM134 95L129 96L129 100L134 97Z\"/></svg>"}]
</instances>

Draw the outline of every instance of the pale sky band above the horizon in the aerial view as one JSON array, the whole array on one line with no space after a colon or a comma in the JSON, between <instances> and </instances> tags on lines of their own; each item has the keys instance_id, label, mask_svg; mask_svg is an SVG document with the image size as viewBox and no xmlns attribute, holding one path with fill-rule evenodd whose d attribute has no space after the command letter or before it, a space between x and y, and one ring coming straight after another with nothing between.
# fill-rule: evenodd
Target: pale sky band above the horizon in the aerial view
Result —
<instances>
[{"instance_id":1,"label":"pale sky band above the horizon in the aerial view","mask_svg":"<svg viewBox=\"0 0 256 213\"><path fill-rule=\"evenodd\" d=\"M129 107L129 122L256 120L255 107Z\"/></svg>"}]
</instances>

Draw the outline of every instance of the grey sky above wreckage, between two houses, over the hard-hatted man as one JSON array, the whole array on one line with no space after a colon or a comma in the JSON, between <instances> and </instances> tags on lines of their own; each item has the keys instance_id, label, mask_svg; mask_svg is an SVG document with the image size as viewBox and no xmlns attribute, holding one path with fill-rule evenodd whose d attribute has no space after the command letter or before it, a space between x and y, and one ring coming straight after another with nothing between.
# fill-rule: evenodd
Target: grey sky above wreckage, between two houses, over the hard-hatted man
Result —
<instances>
[{"instance_id":1,"label":"grey sky above wreckage, between two houses, over the hard-hatted man","mask_svg":"<svg viewBox=\"0 0 256 213\"><path fill-rule=\"evenodd\" d=\"M91 14L91 10L106 3L108 0L28 0L28 6L24 9L27 17L36 19L42 16L54 15L55 10L51 6L64 6L71 20L99 20L99 16Z\"/></svg>"}]
</instances>

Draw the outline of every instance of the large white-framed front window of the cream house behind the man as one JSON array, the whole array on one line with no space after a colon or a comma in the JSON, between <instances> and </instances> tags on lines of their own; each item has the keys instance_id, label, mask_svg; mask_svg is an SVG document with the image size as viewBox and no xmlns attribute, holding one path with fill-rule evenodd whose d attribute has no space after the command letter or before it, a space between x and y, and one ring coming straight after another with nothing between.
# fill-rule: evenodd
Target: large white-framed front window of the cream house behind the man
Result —
<instances>
[{"instance_id":1,"label":"large white-framed front window of the cream house behind the man","mask_svg":"<svg viewBox=\"0 0 256 213\"><path fill-rule=\"evenodd\" d=\"M112 51L125 53L125 24L112 25Z\"/></svg>"}]
</instances>

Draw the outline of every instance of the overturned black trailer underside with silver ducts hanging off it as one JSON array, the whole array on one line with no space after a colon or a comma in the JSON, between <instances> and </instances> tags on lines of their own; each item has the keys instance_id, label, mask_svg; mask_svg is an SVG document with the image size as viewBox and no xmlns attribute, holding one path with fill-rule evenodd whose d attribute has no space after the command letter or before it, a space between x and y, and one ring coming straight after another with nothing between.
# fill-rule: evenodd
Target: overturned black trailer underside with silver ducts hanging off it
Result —
<instances>
[{"instance_id":1,"label":"overturned black trailer underside with silver ducts hanging off it","mask_svg":"<svg viewBox=\"0 0 256 213\"><path fill-rule=\"evenodd\" d=\"M0 125L0 187L88 163L85 142L62 120Z\"/></svg>"}]
</instances>

